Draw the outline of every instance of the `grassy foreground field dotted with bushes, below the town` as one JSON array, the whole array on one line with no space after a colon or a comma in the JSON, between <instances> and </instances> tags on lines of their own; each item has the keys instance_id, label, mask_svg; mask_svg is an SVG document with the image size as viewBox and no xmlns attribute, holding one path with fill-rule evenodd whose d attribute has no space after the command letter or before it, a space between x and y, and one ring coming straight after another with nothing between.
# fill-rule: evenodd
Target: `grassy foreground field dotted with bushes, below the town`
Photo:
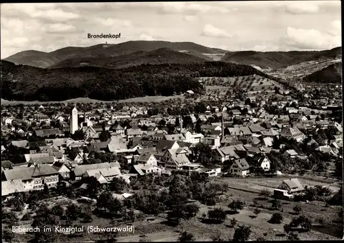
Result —
<instances>
[{"instance_id":1,"label":"grassy foreground field dotted with bushes, below the town","mask_svg":"<svg viewBox=\"0 0 344 243\"><path fill-rule=\"evenodd\" d=\"M118 242L139 242L139 241L162 241L171 242L178 240L180 232L188 231L193 233L195 239L198 241L211 241L212 237L220 235L222 239L228 240L233 238L235 229L229 226L230 219L236 218L238 224L249 225L252 229L250 240L256 240L257 238L266 238L267 240L286 240L286 234L283 230L283 225L288 224L292 218L295 217L293 213L293 207L300 205L303 209L303 214L310 218L312 221L311 231L308 233L299 233L301 240L338 240L341 238L343 230L342 222L336 221L338 207L326 206L322 202L310 202L310 203L296 203L286 200L282 200L283 210L283 223L271 224L268 222L273 213L277 212L270 209L271 199L259 198L258 193L261 189L272 189L272 187L278 187L278 185L284 179L290 177L299 177L299 181L303 185L331 185L331 189L335 191L340 186L338 181L330 180L329 178L311 177L311 176L288 176L283 175L275 178L217 178L215 181L221 181L228 183L230 189L226 194L221 196L221 200L215 207L222 207L227 212L227 217L222 224L212 224L204 222L202 220L202 214L207 213L208 207L198 201L194 201L200 206L200 211L197 216L190 220L182 220L178 227L171 227L166 224L166 213L160 213L158 216L145 215L140 220L137 219L135 222L122 222L118 221L115 224L111 224L111 220L108 218L98 218L93 216L94 220L89 223L78 220L76 224L83 224L85 227L88 225L99 226L99 227L125 227L126 225L132 224L135 227L135 231L121 232L118 236ZM254 218L254 209L257 207L253 201L257 198L261 213ZM246 205L244 209L239 210L239 213L233 213L229 210L228 204L231 200L239 199ZM54 200L57 202L57 200ZM77 203L75 200L69 200L69 203ZM80 205L80 203L77 203ZM23 213L20 213L22 216ZM321 216L324 220L324 224L321 227L316 226L316 219ZM153 220L148 220L153 218ZM30 225L31 222L19 222L21 225ZM30 238L30 235L17 235L16 240L25 242ZM105 238L105 235L98 233L83 233L82 235L59 235L59 241L63 242L94 242L100 238Z\"/></svg>"}]
</instances>

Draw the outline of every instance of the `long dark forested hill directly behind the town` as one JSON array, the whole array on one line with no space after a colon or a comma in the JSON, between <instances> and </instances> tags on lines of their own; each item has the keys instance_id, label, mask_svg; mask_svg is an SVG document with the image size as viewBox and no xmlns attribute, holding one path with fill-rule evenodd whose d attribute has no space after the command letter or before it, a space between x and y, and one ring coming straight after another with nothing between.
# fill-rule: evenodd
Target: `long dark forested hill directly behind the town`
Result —
<instances>
[{"instance_id":1,"label":"long dark forested hill directly behind the town","mask_svg":"<svg viewBox=\"0 0 344 243\"><path fill-rule=\"evenodd\" d=\"M1 61L1 97L5 100L58 101L76 97L122 100L145 95L203 91L201 76L232 77L265 73L226 62L140 65L126 69L68 67L41 69Z\"/></svg>"}]
</instances>

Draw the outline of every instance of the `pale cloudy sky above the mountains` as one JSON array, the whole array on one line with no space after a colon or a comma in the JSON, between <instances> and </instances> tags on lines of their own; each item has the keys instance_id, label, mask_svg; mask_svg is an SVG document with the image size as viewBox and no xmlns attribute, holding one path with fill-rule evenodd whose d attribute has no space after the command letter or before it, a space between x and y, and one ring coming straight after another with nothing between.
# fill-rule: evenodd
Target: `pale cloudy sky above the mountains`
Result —
<instances>
[{"instance_id":1,"label":"pale cloudy sky above the mountains","mask_svg":"<svg viewBox=\"0 0 344 243\"><path fill-rule=\"evenodd\" d=\"M87 38L102 33L121 37ZM129 40L228 51L332 49L341 46L341 1L1 4L1 58Z\"/></svg>"}]
</instances>

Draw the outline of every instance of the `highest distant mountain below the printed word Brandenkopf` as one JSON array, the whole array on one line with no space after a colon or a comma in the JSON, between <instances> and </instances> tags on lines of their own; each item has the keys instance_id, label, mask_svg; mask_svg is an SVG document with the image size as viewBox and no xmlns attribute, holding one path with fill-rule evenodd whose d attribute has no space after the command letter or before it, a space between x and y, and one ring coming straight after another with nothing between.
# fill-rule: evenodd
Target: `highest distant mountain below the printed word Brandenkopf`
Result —
<instances>
[{"instance_id":1,"label":"highest distant mountain below the printed word Brandenkopf","mask_svg":"<svg viewBox=\"0 0 344 243\"><path fill-rule=\"evenodd\" d=\"M225 50L205 47L191 42L173 43L169 41L144 41L133 40L120 44L100 44L91 47L65 47L49 53L42 51L21 51L5 58L8 62L32 67L51 67L67 59L78 58L108 58L133 54L137 51L153 51L168 48L175 51L189 51L189 54L219 54L226 53ZM73 62L73 61L71 61Z\"/></svg>"}]
</instances>

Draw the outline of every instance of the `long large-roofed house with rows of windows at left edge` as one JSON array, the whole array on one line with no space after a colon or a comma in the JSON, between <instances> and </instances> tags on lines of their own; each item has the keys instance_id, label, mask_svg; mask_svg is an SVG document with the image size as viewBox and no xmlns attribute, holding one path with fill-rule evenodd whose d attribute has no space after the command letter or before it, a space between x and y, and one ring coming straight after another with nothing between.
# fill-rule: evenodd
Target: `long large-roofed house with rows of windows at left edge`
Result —
<instances>
[{"instance_id":1,"label":"long large-roofed house with rows of windows at left edge","mask_svg":"<svg viewBox=\"0 0 344 243\"><path fill-rule=\"evenodd\" d=\"M17 167L3 171L3 181L21 180L25 191L43 189L46 184L54 187L58 183L58 172L47 164Z\"/></svg>"}]
</instances>

